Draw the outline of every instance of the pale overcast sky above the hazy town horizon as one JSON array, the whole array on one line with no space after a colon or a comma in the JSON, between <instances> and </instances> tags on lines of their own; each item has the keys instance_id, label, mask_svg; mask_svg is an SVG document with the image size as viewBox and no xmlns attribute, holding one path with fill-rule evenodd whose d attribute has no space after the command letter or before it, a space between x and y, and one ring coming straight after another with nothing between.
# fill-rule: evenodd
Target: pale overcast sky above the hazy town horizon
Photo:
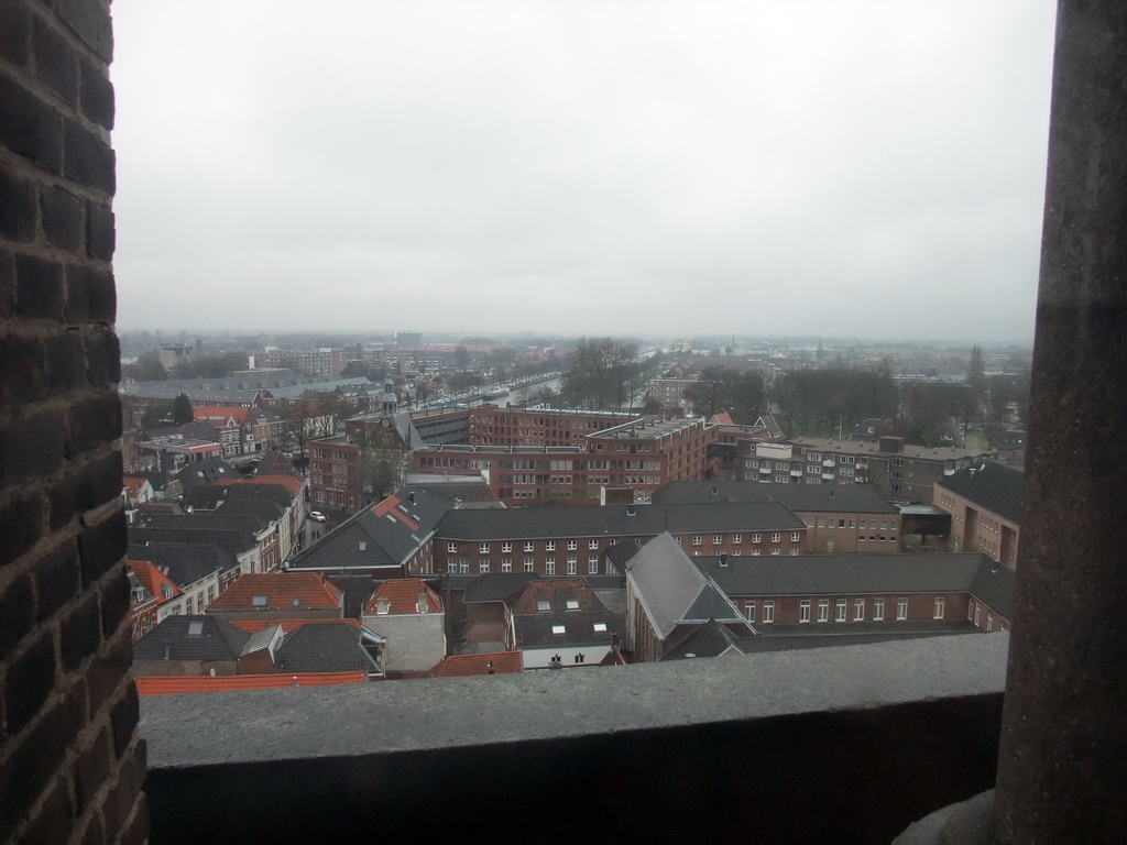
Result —
<instances>
[{"instance_id":1,"label":"pale overcast sky above the hazy town horizon","mask_svg":"<svg viewBox=\"0 0 1127 845\"><path fill-rule=\"evenodd\" d=\"M1031 343L1053 0L115 0L122 329Z\"/></svg>"}]
</instances>

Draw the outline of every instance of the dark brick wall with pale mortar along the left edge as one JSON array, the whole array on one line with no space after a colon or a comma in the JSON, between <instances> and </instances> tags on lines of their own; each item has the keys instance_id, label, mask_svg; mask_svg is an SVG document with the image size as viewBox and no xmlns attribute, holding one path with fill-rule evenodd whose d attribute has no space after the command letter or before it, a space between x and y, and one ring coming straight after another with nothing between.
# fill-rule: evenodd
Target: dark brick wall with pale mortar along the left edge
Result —
<instances>
[{"instance_id":1,"label":"dark brick wall with pale mortar along the left edge","mask_svg":"<svg viewBox=\"0 0 1127 845\"><path fill-rule=\"evenodd\" d=\"M108 0L0 0L0 840L141 842Z\"/></svg>"}]
</instances>

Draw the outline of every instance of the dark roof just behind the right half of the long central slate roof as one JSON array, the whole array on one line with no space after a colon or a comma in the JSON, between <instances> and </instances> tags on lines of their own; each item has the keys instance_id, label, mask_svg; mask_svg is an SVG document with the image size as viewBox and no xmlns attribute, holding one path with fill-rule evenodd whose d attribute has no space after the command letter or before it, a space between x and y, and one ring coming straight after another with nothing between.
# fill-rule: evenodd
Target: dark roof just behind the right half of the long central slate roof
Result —
<instances>
[{"instance_id":1,"label":"dark roof just behind the right half of the long central slate roof","mask_svg":"<svg viewBox=\"0 0 1127 845\"><path fill-rule=\"evenodd\" d=\"M671 481L654 493L655 505L719 501L781 501L795 512L895 514L870 484L777 484L757 481Z\"/></svg>"}]
</instances>

